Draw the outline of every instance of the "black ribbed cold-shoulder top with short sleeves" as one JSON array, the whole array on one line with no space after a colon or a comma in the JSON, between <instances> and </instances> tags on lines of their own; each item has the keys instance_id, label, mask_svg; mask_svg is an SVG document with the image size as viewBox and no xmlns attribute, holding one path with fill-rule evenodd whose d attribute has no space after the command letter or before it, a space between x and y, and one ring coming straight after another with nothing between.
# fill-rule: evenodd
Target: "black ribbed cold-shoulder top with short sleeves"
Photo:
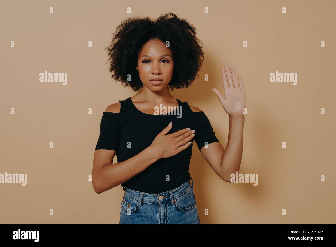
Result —
<instances>
[{"instance_id":1,"label":"black ribbed cold-shoulder top with short sleeves","mask_svg":"<svg viewBox=\"0 0 336 247\"><path fill-rule=\"evenodd\" d=\"M100 121L99 138L95 150L115 150L118 162L125 161L149 147L154 138L172 122L167 134L184 128L195 129L195 140L201 150L207 144L219 140L204 112L193 112L187 101L167 115L152 115L141 112L133 104L131 97L121 102L119 113L103 112ZM170 110L168 110L170 111ZM121 184L134 191L159 194L173 190L191 179L189 164L192 144L178 154L162 158L145 170Z\"/></svg>"}]
</instances>

